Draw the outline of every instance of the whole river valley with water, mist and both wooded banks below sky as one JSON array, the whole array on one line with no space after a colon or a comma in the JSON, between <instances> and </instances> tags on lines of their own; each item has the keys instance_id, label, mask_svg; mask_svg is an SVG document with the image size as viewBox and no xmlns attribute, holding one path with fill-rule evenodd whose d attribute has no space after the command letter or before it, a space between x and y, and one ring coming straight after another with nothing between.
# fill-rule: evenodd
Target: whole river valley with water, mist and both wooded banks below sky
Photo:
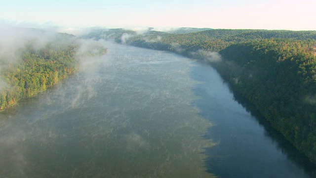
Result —
<instances>
[{"instance_id":1,"label":"whole river valley with water, mist and both wooded banks below sky","mask_svg":"<svg viewBox=\"0 0 316 178\"><path fill-rule=\"evenodd\" d=\"M314 31L3 34L0 177L316 177Z\"/></svg>"}]
</instances>

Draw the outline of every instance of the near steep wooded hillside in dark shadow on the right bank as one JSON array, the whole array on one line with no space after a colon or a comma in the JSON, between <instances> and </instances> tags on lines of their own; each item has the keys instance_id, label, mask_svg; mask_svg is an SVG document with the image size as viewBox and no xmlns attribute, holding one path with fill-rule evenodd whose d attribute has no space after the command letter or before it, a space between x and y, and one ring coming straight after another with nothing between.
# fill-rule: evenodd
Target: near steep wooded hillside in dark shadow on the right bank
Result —
<instances>
[{"instance_id":1,"label":"near steep wooded hillside in dark shadow on the right bank","mask_svg":"<svg viewBox=\"0 0 316 178\"><path fill-rule=\"evenodd\" d=\"M216 65L233 90L316 163L315 41L261 40L220 51ZM232 70L234 69L234 70Z\"/></svg>"}]
</instances>

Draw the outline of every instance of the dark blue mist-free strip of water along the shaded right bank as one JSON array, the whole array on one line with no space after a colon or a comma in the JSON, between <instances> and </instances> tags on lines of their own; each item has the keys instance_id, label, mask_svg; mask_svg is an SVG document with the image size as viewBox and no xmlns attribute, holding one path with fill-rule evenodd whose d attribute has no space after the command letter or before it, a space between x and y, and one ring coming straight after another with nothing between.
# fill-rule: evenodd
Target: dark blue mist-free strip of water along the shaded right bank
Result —
<instances>
[{"instance_id":1,"label":"dark blue mist-free strip of water along the shaded right bank","mask_svg":"<svg viewBox=\"0 0 316 178\"><path fill-rule=\"evenodd\" d=\"M192 71L202 82L194 89L201 96L195 104L215 125L205 137L219 143L207 148L209 172L222 178L316 178L315 165L260 114L246 111L213 68L197 65Z\"/></svg>"}]
</instances>

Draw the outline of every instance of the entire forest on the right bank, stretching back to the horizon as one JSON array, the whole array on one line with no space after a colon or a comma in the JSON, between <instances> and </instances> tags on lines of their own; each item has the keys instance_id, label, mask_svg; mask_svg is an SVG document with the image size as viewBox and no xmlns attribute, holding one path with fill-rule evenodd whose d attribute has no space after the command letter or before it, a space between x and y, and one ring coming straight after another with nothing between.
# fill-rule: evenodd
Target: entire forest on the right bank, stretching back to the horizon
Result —
<instances>
[{"instance_id":1,"label":"entire forest on the right bank, stretching back to the horizon","mask_svg":"<svg viewBox=\"0 0 316 178\"><path fill-rule=\"evenodd\" d=\"M316 164L316 31L223 30L138 34L99 29L85 38L173 51L213 65L231 89Z\"/></svg>"}]
</instances>

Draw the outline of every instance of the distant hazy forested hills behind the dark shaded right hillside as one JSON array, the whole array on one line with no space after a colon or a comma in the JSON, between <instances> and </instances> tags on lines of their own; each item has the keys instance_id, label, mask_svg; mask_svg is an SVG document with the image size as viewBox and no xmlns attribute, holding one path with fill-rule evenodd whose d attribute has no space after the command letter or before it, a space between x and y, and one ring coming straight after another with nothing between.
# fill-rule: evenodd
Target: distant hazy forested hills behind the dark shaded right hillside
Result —
<instances>
[{"instance_id":1,"label":"distant hazy forested hills behind the dark shaded right hillside","mask_svg":"<svg viewBox=\"0 0 316 178\"><path fill-rule=\"evenodd\" d=\"M229 45L242 42L258 41L262 39L293 39L312 40L316 39L315 31L269 31L269 30L223 30L214 29L189 34L168 34L164 32L149 31L142 35L134 35L127 31L130 38L125 40L126 44L147 47L160 50L169 50L183 55L203 49L217 51ZM117 42L120 39L115 39Z\"/></svg>"}]
</instances>

